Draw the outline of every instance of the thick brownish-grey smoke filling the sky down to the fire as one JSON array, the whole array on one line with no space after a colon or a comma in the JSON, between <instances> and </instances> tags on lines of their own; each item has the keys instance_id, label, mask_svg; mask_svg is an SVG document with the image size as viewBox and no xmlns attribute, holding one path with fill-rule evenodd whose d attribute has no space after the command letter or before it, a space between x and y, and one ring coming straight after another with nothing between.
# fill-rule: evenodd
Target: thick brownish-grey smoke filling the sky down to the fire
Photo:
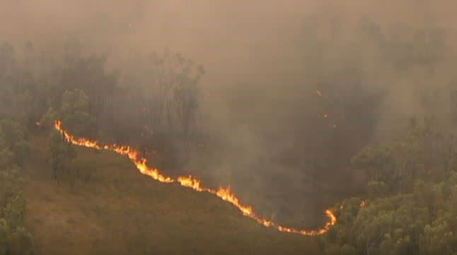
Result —
<instances>
[{"instance_id":1,"label":"thick brownish-grey smoke filling the sky down to the fire","mask_svg":"<svg viewBox=\"0 0 457 255\"><path fill-rule=\"evenodd\" d=\"M202 127L219 147L187 167L267 215L313 225L358 185L347 162L361 146L394 138L412 115L451 124L456 5L1 0L0 38L48 52L77 40L120 70L165 49L204 65Z\"/></svg>"}]
</instances>

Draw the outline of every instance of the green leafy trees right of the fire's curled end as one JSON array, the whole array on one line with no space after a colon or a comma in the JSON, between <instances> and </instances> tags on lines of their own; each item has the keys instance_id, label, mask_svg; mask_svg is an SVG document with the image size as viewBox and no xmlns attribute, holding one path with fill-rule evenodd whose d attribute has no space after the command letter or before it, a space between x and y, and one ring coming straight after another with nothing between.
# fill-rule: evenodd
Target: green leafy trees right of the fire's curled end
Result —
<instances>
[{"instance_id":1,"label":"green leafy trees right of the fire's curled end","mask_svg":"<svg viewBox=\"0 0 457 255\"><path fill-rule=\"evenodd\" d=\"M370 173L366 198L335 208L338 223L326 238L326 254L342 254L345 246L354 254L455 254L455 148L444 141L453 141L451 134L424 119L390 145L355 155L352 165Z\"/></svg>"}]
</instances>

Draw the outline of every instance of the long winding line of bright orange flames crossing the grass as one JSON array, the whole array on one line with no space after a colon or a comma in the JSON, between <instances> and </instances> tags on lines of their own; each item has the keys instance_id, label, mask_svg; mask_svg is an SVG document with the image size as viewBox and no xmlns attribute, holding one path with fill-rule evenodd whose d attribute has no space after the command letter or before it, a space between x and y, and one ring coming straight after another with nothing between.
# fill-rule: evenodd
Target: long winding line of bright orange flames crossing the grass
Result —
<instances>
[{"instance_id":1,"label":"long winding line of bright orange flames crossing the grass","mask_svg":"<svg viewBox=\"0 0 457 255\"><path fill-rule=\"evenodd\" d=\"M235 194L233 194L230 187L219 187L219 189L211 189L204 187L199 179L192 176L181 176L177 179L167 177L161 174L161 172L157 168L149 167L147 165L146 158L141 158L138 150L134 150L134 148L117 144L101 145L100 143L98 143L98 141L91 141L86 138L75 138L62 128L62 121L56 121L54 124L54 128L57 129L57 131L59 131L67 141L76 146L95 148L97 150L111 150L115 153L119 153L120 155L126 155L134 163L134 165L137 167L139 172L141 172L141 174L145 174L151 177L152 179L157 180L158 182L170 184L177 183L181 186L185 186L195 191L214 194L215 196L221 198L224 201L227 201L228 203L231 203L233 206L241 210L241 213L243 213L243 215L257 221L265 227L273 227L274 229L279 230L280 232L289 232L299 235L322 235L325 234L325 232L328 232L332 225L335 225L337 223L337 218L335 214L333 214L331 210L325 210L325 215L327 215L328 221L327 223L325 223L323 227L321 227L318 230L300 230L294 227L283 227L282 225L273 223L270 220L261 218L254 212L251 206L246 206L243 203L241 203L238 197Z\"/></svg>"}]
</instances>

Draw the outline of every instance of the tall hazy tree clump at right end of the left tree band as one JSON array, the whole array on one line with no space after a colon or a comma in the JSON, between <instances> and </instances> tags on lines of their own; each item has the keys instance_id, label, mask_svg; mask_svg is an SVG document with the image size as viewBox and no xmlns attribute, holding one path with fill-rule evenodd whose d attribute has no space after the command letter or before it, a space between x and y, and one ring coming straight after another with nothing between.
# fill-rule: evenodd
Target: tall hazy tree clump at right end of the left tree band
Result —
<instances>
[{"instance_id":1,"label":"tall hazy tree clump at right end of the left tree band","mask_svg":"<svg viewBox=\"0 0 457 255\"><path fill-rule=\"evenodd\" d=\"M172 132L172 136L178 132L188 140L202 100L199 79L203 66L169 52L149 55L144 65L144 70L135 73L137 78L132 78L144 92L140 111L146 122L144 134L152 134L154 139L163 131Z\"/></svg>"}]
</instances>

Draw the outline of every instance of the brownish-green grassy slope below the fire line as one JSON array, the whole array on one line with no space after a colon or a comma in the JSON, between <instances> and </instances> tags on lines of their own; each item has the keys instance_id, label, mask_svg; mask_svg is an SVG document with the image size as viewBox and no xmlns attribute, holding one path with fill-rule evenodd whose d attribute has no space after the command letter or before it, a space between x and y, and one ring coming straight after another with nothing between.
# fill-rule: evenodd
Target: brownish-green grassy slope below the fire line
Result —
<instances>
[{"instance_id":1,"label":"brownish-green grassy slope below the fire line","mask_svg":"<svg viewBox=\"0 0 457 255\"><path fill-rule=\"evenodd\" d=\"M78 148L80 181L54 182L45 139L25 167L38 254L316 254L316 238L262 227L209 194L158 183L127 158ZM90 175L90 177L89 177Z\"/></svg>"}]
</instances>

